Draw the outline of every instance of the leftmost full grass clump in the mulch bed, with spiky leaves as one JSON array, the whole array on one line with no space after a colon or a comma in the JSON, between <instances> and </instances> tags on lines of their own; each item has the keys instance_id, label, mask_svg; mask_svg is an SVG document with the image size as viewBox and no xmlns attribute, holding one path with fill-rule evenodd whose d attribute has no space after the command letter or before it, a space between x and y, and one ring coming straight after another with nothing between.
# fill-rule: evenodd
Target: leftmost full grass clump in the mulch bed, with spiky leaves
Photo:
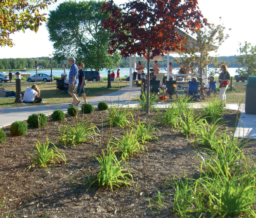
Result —
<instances>
[{"instance_id":1,"label":"leftmost full grass clump in the mulch bed, with spiky leaves","mask_svg":"<svg viewBox=\"0 0 256 218\"><path fill-rule=\"evenodd\" d=\"M52 147L50 147L52 144ZM47 164L52 162L55 164L57 161L59 164L58 158L66 163L66 156L64 153L61 153L61 150L57 148L50 140L47 138L46 142L41 144L39 141L36 143L37 150L34 150L34 153L28 152L32 156L32 164L29 165L25 170L29 170L32 166L41 165L42 167L47 168Z\"/></svg>"}]
</instances>

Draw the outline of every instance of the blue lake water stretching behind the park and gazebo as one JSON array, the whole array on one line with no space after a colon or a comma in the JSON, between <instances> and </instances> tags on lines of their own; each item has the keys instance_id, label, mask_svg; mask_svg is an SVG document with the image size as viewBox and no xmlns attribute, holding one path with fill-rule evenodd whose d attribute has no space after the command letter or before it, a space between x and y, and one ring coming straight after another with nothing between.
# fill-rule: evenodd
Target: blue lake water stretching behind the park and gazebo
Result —
<instances>
[{"instance_id":1,"label":"blue lake water stretching behind the park and gazebo","mask_svg":"<svg viewBox=\"0 0 256 218\"><path fill-rule=\"evenodd\" d=\"M238 68L228 68L228 72L229 72L230 76L237 75L238 74L238 73L236 73L237 69ZM117 69L115 70L115 74L116 74L116 71L117 71ZM179 68L173 68L174 74L178 73L178 71L179 71ZM42 73L42 72L44 72L48 75L51 74L51 70L37 70L37 73ZM129 75L129 72L130 72L129 68L122 68L122 69L120 69L120 76L124 77L125 75ZM133 72L133 68L132 68L132 72ZM147 68L145 68L144 72L147 72ZM36 74L36 71L35 70L34 71L26 71L23 73L30 73L31 76L34 76ZM53 73L53 76L61 76L61 73L64 73L64 70L52 70L52 73ZM69 74L68 69L66 69L66 73L67 73L67 75ZM108 70L106 70L106 69L100 70L100 73L102 76L108 76ZM166 71L163 68L161 68L160 73L166 73Z\"/></svg>"}]
</instances>

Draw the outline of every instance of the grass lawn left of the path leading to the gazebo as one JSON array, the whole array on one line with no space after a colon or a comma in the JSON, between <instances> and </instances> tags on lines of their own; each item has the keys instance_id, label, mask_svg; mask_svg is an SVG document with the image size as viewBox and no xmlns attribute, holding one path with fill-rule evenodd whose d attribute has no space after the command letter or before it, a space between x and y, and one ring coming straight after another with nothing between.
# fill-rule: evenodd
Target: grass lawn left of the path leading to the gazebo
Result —
<instances>
[{"instance_id":1,"label":"grass lawn left of the path leading to the gazebo","mask_svg":"<svg viewBox=\"0 0 256 218\"><path fill-rule=\"evenodd\" d=\"M107 89L107 82L87 82L85 86L85 93L87 93L87 99L101 96L103 94L109 94L111 92L116 92L119 88L125 87L129 85L129 82L112 82L112 88ZM31 87L32 84L29 84ZM67 103L72 102L72 97L69 94L56 94L56 84L55 83L41 83L38 84L39 89L41 91L41 96L43 101L46 103L42 104L59 104L59 103ZM25 92L28 84L21 84L21 92ZM0 84L0 88L7 89L8 91L16 91L15 84ZM79 100L82 100L82 95L79 95ZM0 107L17 107L23 104L14 103L15 98L0 98ZM31 104L32 105L32 104Z\"/></svg>"}]
</instances>

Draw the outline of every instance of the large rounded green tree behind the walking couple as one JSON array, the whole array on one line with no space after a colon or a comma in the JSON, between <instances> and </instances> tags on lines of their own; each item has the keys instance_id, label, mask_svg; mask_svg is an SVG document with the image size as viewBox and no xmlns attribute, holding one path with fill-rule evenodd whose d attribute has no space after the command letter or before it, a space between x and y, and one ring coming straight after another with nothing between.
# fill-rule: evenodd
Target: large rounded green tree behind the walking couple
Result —
<instances>
[{"instance_id":1,"label":"large rounded green tree behind the walking couple","mask_svg":"<svg viewBox=\"0 0 256 218\"><path fill-rule=\"evenodd\" d=\"M110 31L101 27L108 14L99 7L103 1L68 1L50 11L47 28L55 49L54 57L76 57L86 69L114 69L119 66L118 52L108 54Z\"/></svg>"}]
</instances>

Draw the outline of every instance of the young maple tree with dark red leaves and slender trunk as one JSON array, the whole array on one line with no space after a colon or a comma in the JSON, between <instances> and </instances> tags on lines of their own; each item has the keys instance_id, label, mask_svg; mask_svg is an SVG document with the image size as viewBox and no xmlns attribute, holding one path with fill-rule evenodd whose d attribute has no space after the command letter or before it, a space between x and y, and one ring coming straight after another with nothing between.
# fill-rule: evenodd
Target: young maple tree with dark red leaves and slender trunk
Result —
<instances>
[{"instance_id":1,"label":"young maple tree with dark red leaves and slender trunk","mask_svg":"<svg viewBox=\"0 0 256 218\"><path fill-rule=\"evenodd\" d=\"M183 41L186 41L176 28L195 31L207 22L199 11L197 0L137 0L119 7L110 0L100 9L109 13L102 23L103 28L112 33L108 52L112 54L118 50L122 57L135 53L144 55L147 66L154 56L184 50ZM149 75L149 67L147 70ZM146 99L146 113L149 114L149 85Z\"/></svg>"}]
</instances>

